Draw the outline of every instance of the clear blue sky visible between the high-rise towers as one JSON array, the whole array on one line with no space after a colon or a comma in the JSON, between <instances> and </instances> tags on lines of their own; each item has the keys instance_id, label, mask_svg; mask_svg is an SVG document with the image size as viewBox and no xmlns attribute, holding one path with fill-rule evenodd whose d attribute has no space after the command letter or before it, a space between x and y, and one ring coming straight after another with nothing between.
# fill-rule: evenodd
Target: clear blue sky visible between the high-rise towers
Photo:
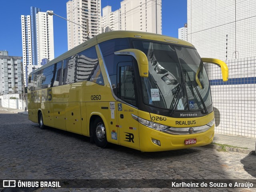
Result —
<instances>
[{"instance_id":1,"label":"clear blue sky visible between the high-rise towers","mask_svg":"<svg viewBox=\"0 0 256 192\"><path fill-rule=\"evenodd\" d=\"M120 8L122 0L101 0L101 8L109 5L112 11ZM22 56L21 15L30 15L30 7L42 12L54 11L67 17L68 0L1 0L0 8L0 50L8 51L9 56ZM178 38L178 28L187 23L187 0L162 0L162 34ZM68 51L66 20L54 16L54 57Z\"/></svg>"}]
</instances>

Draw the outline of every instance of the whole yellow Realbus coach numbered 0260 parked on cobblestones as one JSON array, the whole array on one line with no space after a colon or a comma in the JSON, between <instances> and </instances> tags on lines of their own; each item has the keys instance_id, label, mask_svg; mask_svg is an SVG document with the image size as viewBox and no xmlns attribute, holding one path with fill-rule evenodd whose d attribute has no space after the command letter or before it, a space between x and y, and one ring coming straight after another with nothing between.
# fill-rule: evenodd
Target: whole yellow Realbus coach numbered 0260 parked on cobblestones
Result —
<instances>
[{"instance_id":1,"label":"whole yellow Realbus coach numbered 0260 parked on cobblestones","mask_svg":"<svg viewBox=\"0 0 256 192\"><path fill-rule=\"evenodd\" d=\"M112 31L78 45L29 74L28 118L85 135L99 147L141 151L202 146L214 137L203 62L186 41Z\"/></svg>"}]
</instances>

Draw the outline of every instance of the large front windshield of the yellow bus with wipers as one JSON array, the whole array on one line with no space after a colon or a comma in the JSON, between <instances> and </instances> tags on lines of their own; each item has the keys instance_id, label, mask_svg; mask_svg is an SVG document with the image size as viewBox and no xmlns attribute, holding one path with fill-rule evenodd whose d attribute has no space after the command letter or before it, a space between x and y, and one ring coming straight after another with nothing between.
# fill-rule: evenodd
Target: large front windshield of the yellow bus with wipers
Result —
<instances>
[{"instance_id":1,"label":"large front windshield of the yellow bus with wipers","mask_svg":"<svg viewBox=\"0 0 256 192\"><path fill-rule=\"evenodd\" d=\"M172 113L184 110L207 113L207 107L212 105L209 81L196 49L138 40L133 45L148 57L148 78L141 77L146 105Z\"/></svg>"}]
</instances>

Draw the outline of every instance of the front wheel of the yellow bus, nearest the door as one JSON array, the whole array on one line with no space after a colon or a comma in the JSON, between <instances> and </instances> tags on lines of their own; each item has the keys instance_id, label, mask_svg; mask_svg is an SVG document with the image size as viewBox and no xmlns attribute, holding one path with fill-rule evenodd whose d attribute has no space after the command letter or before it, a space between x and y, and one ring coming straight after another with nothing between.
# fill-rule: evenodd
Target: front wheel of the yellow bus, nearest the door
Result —
<instances>
[{"instance_id":1,"label":"front wheel of the yellow bus, nearest the door","mask_svg":"<svg viewBox=\"0 0 256 192\"><path fill-rule=\"evenodd\" d=\"M105 148L108 144L106 128L100 117L96 118L93 125L93 139L97 146Z\"/></svg>"}]
</instances>

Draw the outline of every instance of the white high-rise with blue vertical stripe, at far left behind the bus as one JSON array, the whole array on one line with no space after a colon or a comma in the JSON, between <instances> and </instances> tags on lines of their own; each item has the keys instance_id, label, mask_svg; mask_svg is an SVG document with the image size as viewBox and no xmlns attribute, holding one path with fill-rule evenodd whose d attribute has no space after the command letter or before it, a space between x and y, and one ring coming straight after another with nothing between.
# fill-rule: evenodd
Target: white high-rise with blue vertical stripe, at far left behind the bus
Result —
<instances>
[{"instance_id":1,"label":"white high-rise with blue vertical stripe, at far left behind the bus","mask_svg":"<svg viewBox=\"0 0 256 192\"><path fill-rule=\"evenodd\" d=\"M54 59L53 18L46 12L40 12L40 8L30 7L30 15L21 16L21 28L24 81L27 86L30 69L38 68L42 59Z\"/></svg>"}]
</instances>

